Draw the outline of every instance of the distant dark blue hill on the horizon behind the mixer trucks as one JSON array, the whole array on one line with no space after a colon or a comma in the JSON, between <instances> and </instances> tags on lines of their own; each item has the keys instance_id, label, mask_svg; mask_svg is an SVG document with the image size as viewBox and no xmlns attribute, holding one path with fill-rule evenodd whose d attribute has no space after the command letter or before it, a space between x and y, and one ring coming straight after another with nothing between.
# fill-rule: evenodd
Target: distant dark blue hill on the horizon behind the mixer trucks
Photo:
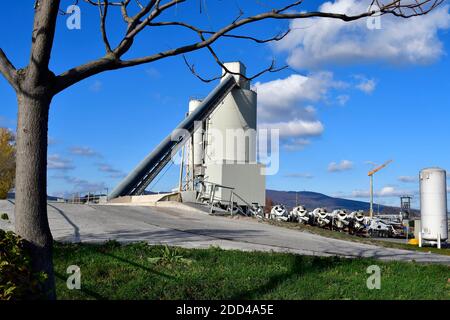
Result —
<instances>
[{"instance_id":1,"label":"distant dark blue hill on the horizon behind the mixer trucks","mask_svg":"<svg viewBox=\"0 0 450 320\"><path fill-rule=\"evenodd\" d=\"M298 204L305 206L308 210L318 207L326 208L328 211L335 209L346 209L348 211L364 210L369 211L370 204L364 201L348 200L342 198L334 198L322 193L310 191L277 191L266 190L266 197L270 198L275 204L284 204L288 208L295 207L296 195ZM378 204L374 204L374 211L378 212ZM398 214L400 208L380 205L380 213ZM418 214L418 210L411 210L412 214Z\"/></svg>"}]
</instances>

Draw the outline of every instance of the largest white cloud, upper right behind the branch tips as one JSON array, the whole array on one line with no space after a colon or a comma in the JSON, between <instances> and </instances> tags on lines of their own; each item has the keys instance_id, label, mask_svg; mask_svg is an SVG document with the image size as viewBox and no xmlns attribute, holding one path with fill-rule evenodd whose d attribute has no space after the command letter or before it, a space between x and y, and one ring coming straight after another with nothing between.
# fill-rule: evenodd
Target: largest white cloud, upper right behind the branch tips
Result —
<instances>
[{"instance_id":1,"label":"largest white cloud, upper right behind the branch tips","mask_svg":"<svg viewBox=\"0 0 450 320\"><path fill-rule=\"evenodd\" d=\"M367 11L370 0L336 0L323 3L324 12L357 14ZM401 19L381 17L381 29L367 28L367 19L344 22L338 19L297 19L291 33L274 44L288 53L294 68L362 62L395 65L428 64L444 54L438 31L450 28L449 6L440 6L427 15Z\"/></svg>"}]
</instances>

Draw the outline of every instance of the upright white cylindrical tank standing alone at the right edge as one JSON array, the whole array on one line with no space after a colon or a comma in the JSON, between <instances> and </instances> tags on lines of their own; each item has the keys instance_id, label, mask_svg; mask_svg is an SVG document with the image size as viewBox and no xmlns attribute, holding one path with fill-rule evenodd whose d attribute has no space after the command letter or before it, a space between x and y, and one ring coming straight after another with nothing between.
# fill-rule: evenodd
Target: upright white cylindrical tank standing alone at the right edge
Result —
<instances>
[{"instance_id":1,"label":"upright white cylindrical tank standing alone at the right edge","mask_svg":"<svg viewBox=\"0 0 450 320\"><path fill-rule=\"evenodd\" d=\"M422 239L448 239L447 178L441 168L420 171L420 215Z\"/></svg>"}]
</instances>

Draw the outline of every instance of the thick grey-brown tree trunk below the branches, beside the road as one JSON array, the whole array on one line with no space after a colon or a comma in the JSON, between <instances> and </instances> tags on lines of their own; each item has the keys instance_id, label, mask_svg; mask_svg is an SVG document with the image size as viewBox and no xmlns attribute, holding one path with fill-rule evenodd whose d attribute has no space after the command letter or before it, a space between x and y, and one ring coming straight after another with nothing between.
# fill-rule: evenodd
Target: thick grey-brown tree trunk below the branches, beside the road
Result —
<instances>
[{"instance_id":1,"label":"thick grey-brown tree trunk below the branches, beside the road","mask_svg":"<svg viewBox=\"0 0 450 320\"><path fill-rule=\"evenodd\" d=\"M53 238L47 219L47 134L52 96L18 93L16 233L26 240L32 270L45 272L42 292L55 299Z\"/></svg>"}]
</instances>

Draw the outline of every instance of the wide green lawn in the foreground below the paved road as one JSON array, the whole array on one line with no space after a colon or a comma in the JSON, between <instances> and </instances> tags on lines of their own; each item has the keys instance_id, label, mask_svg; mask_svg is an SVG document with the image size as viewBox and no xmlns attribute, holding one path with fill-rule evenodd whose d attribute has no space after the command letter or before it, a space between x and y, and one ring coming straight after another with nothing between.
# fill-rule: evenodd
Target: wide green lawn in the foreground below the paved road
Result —
<instances>
[{"instance_id":1,"label":"wide green lawn in the foreground below the paved road","mask_svg":"<svg viewBox=\"0 0 450 320\"><path fill-rule=\"evenodd\" d=\"M59 299L450 299L450 267L144 243L56 244ZM175 250L175 252L173 252ZM179 256L182 258L179 259ZM149 259L157 258L161 259ZM156 261L156 262L155 262ZM381 268L369 290L368 266ZM69 265L81 290L66 287Z\"/></svg>"}]
</instances>

